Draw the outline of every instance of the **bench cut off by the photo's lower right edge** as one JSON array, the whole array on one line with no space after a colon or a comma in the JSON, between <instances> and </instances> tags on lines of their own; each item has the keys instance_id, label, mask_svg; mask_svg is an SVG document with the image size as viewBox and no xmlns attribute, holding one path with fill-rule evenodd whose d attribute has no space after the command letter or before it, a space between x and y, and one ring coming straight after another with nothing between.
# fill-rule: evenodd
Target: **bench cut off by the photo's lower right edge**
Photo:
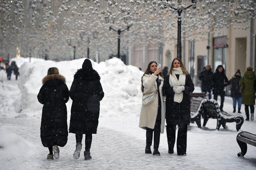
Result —
<instances>
[{"instance_id":1,"label":"bench cut off by the photo's lower right edge","mask_svg":"<svg viewBox=\"0 0 256 170\"><path fill-rule=\"evenodd\" d=\"M256 134L252 134L246 131L242 131L237 134L236 141L241 148L241 152L237 154L237 156L244 156L247 152L247 144L253 145L256 147Z\"/></svg>"}]
</instances>

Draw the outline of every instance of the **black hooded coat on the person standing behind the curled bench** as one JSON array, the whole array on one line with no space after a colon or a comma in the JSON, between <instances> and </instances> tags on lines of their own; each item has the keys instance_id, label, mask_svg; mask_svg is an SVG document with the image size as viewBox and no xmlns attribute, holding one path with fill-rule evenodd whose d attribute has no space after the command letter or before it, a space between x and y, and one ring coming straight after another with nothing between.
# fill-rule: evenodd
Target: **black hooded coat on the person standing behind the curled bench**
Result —
<instances>
[{"instance_id":1,"label":"black hooded coat on the person standing behind the curled bench","mask_svg":"<svg viewBox=\"0 0 256 170\"><path fill-rule=\"evenodd\" d=\"M218 71L218 68L222 67L222 65L219 65L216 68L216 72L213 74L213 92L212 94L222 94L224 92L224 88L228 85L228 84L224 84L224 81L228 83L228 78L225 75L225 70L223 68L222 72Z\"/></svg>"}]
</instances>

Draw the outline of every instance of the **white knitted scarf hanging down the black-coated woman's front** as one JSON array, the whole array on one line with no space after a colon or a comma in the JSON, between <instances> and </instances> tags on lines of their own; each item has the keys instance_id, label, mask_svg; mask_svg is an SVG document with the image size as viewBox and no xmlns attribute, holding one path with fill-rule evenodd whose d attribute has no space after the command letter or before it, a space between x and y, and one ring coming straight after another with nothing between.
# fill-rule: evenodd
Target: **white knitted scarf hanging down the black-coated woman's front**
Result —
<instances>
[{"instance_id":1,"label":"white knitted scarf hanging down the black-coated woman's front","mask_svg":"<svg viewBox=\"0 0 256 170\"><path fill-rule=\"evenodd\" d=\"M175 74L179 74L179 81ZM169 84L171 87L174 86L185 86L186 76L183 73L181 67L173 68L172 74L170 74ZM180 103L183 99L183 92L174 94L174 102Z\"/></svg>"}]
</instances>

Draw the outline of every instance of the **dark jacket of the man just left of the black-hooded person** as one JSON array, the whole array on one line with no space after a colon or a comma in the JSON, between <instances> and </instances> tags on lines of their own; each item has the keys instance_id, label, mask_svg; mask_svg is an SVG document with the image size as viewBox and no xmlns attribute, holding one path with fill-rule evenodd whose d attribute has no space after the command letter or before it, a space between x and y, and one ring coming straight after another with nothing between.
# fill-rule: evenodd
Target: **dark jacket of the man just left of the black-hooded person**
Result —
<instances>
[{"instance_id":1,"label":"dark jacket of the man just left of the black-hooded person","mask_svg":"<svg viewBox=\"0 0 256 170\"><path fill-rule=\"evenodd\" d=\"M204 91L210 90L213 85L213 72L210 69L209 71L204 70L201 72L199 76L199 80L202 81L201 88Z\"/></svg>"}]
</instances>

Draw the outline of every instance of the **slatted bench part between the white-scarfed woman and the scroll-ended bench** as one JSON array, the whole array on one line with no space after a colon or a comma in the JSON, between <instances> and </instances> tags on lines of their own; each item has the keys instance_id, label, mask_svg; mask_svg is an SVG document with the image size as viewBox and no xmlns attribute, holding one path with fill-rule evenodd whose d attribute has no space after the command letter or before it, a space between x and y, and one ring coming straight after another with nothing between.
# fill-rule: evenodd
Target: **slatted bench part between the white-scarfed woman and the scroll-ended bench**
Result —
<instances>
[{"instance_id":1,"label":"slatted bench part between the white-scarfed woman and the scroll-ended bench","mask_svg":"<svg viewBox=\"0 0 256 170\"><path fill-rule=\"evenodd\" d=\"M201 127L201 115L204 110L204 103L207 102L207 99L205 98L197 98L197 97L192 97L190 99L191 105L190 105L190 122L194 123L196 122L196 125L198 128Z\"/></svg>"}]
</instances>

